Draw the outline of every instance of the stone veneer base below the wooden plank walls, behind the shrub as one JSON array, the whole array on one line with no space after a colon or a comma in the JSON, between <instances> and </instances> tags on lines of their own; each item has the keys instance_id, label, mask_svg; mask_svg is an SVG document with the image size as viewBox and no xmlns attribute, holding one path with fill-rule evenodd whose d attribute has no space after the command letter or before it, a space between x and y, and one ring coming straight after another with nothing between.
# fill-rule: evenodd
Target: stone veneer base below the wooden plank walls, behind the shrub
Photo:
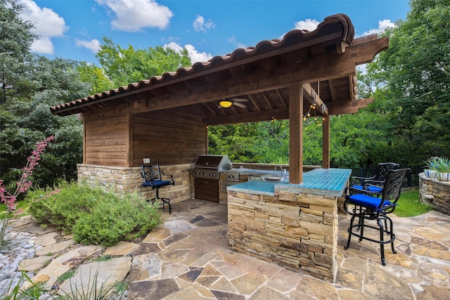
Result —
<instances>
[{"instance_id":1,"label":"stone veneer base below the wooden plank walls, behind the shrub","mask_svg":"<svg viewBox=\"0 0 450 300\"><path fill-rule=\"evenodd\" d=\"M160 197L167 197L171 203L188 200L191 195L191 164L162 167L165 174L174 176L175 185L160 190ZM92 188L100 187L117 195L139 193L146 199L155 197L155 190L143 188L141 193L141 167L108 167L94 164L77 164L78 183L87 183Z\"/></svg>"}]
</instances>

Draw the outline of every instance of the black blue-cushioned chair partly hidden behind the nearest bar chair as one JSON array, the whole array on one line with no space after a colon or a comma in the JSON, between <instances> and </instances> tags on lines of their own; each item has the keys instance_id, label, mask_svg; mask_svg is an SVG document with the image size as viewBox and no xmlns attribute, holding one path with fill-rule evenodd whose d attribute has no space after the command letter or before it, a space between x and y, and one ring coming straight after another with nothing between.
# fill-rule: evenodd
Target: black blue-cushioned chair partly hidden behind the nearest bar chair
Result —
<instances>
[{"instance_id":1,"label":"black blue-cushioned chair partly hidden behind the nearest bar chair","mask_svg":"<svg viewBox=\"0 0 450 300\"><path fill-rule=\"evenodd\" d=\"M377 166L377 172L372 177L352 177L352 188L359 190L368 190L373 195L380 195L383 193L383 185L387 178L387 174L392 169L397 169L399 164L395 162L380 162Z\"/></svg>"}]
</instances>

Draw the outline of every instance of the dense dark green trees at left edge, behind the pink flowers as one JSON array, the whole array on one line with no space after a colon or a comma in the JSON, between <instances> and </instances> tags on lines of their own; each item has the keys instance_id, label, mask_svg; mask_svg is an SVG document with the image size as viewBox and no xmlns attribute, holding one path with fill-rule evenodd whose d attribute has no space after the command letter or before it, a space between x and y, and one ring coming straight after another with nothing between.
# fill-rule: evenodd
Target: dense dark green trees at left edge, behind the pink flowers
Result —
<instances>
[{"instance_id":1,"label":"dense dark green trees at left edge, behind the pink flowers","mask_svg":"<svg viewBox=\"0 0 450 300\"><path fill-rule=\"evenodd\" d=\"M76 178L82 162L82 124L77 117L52 115L49 107L86 96L74 60L32 55L32 24L20 19L22 6L0 2L0 180L20 178L20 168L34 145L55 136L34 172L34 183L53 185L60 177Z\"/></svg>"}]
</instances>

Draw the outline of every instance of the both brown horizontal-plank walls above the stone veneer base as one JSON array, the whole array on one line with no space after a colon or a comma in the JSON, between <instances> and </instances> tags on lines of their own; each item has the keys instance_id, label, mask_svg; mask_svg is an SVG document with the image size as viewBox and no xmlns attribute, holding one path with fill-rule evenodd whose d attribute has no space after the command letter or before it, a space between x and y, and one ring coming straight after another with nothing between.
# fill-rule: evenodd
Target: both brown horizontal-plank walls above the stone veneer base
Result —
<instances>
[{"instance_id":1,"label":"both brown horizontal-plank walls above the stone veneer base","mask_svg":"<svg viewBox=\"0 0 450 300\"><path fill-rule=\"evenodd\" d=\"M207 151L200 117L169 110L129 113L129 103L84 114L84 164L139 167L192 164Z\"/></svg>"}]
</instances>

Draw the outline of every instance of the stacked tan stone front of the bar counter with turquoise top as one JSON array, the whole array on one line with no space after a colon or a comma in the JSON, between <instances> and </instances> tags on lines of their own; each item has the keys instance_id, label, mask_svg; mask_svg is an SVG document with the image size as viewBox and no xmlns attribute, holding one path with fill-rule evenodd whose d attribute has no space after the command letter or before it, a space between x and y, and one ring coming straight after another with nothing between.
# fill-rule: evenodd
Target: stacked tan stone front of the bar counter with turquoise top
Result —
<instances>
[{"instance_id":1,"label":"stacked tan stone front of the bar counter with turquoise top","mask_svg":"<svg viewBox=\"0 0 450 300\"><path fill-rule=\"evenodd\" d=\"M334 282L338 254L335 197L229 191L229 247Z\"/></svg>"}]
</instances>

